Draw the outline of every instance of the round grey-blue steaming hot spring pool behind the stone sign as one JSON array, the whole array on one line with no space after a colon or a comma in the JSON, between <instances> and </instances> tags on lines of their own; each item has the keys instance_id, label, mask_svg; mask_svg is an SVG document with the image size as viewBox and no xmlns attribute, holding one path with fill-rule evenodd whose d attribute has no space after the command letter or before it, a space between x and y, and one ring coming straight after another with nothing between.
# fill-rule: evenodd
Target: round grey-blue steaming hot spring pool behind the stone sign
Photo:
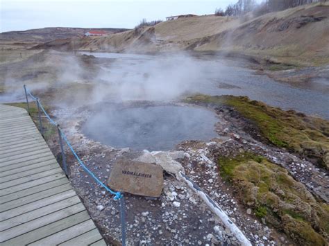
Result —
<instances>
[{"instance_id":1,"label":"round grey-blue steaming hot spring pool behind the stone sign","mask_svg":"<svg viewBox=\"0 0 329 246\"><path fill-rule=\"evenodd\" d=\"M89 139L114 148L171 150L185 140L217 137L214 112L199 107L147 106L104 109L82 125Z\"/></svg>"}]
</instances>

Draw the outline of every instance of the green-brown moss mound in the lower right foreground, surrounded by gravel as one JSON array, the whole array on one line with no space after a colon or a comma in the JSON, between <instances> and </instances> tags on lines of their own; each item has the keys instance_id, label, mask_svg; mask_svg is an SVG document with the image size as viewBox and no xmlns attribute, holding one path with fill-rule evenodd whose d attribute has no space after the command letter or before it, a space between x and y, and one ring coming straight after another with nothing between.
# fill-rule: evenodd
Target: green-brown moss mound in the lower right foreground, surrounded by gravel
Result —
<instances>
[{"instance_id":1,"label":"green-brown moss mound in the lower right foreground, surrounded by gravel","mask_svg":"<svg viewBox=\"0 0 329 246\"><path fill-rule=\"evenodd\" d=\"M317 202L285 168L245 152L220 157L219 173L230 180L239 199L301 245L323 245L329 234L328 204ZM297 229L298 228L298 229Z\"/></svg>"}]
</instances>

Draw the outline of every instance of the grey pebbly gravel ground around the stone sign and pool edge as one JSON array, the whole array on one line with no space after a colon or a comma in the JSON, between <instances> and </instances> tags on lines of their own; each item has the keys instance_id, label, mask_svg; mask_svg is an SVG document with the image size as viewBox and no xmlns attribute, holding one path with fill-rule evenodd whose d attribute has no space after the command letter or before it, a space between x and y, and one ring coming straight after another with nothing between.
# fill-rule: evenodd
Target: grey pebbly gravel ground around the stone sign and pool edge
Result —
<instances>
[{"instance_id":1,"label":"grey pebbly gravel ground around the stone sign and pool edge","mask_svg":"<svg viewBox=\"0 0 329 246\"><path fill-rule=\"evenodd\" d=\"M223 107L217 110L217 113L220 118L216 126L219 137L210 142L181 143L176 149L179 150L176 161L183 166L187 176L226 211L253 245L292 243L289 237L269 227L267 221L257 218L251 209L236 199L233 187L219 175L217 158L237 152L255 152L287 168L290 175L305 184L314 195L328 201L326 171L286 150L251 137L251 133L255 135L254 130L241 130L246 122L230 109ZM80 132L79 123L90 112L76 112L76 118L70 121L65 117L71 115L69 110L55 111L53 114L61 119L71 143L78 150L78 155L102 182L107 182L116 159L138 159L145 155L145 152L136 152L128 148L117 150L86 139ZM56 142L52 142L51 146L56 151ZM96 186L87 173L74 162L74 158L69 158L69 163L71 182L85 202L92 218L106 236L108 243L119 243L119 202L114 201L112 195L106 193L103 188ZM127 240L130 244L239 245L237 239L207 205L185 183L178 181L169 173L165 175L165 186L160 198L125 194L125 202Z\"/></svg>"}]
</instances>

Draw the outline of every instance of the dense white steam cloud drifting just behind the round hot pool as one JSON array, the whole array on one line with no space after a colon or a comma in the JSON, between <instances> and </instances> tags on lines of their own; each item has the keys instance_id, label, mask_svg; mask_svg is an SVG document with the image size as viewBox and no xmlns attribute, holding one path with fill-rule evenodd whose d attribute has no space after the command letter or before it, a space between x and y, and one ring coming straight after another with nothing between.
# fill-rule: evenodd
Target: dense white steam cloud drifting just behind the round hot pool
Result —
<instances>
[{"instance_id":1,"label":"dense white steam cloud drifting just behind the round hot pool","mask_svg":"<svg viewBox=\"0 0 329 246\"><path fill-rule=\"evenodd\" d=\"M186 54L150 56L148 59L121 59L110 68L102 67L101 85L92 98L107 100L175 100L185 93L196 92L207 73L204 62ZM110 89L104 89L110 85Z\"/></svg>"}]
</instances>

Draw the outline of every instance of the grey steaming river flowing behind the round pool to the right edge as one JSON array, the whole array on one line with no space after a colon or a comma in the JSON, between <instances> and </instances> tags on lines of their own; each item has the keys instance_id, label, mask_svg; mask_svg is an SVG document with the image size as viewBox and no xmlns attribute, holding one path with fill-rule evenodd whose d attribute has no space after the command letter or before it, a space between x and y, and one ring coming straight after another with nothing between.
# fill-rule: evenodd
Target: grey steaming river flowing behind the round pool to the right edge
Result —
<instances>
[{"instance_id":1,"label":"grey steaming river flowing behind the round pool to the right edge","mask_svg":"<svg viewBox=\"0 0 329 246\"><path fill-rule=\"evenodd\" d=\"M116 53L92 55L115 58L112 67L103 69L111 71L109 80L124 85L116 91L116 95L124 98L134 100L138 94L146 100L167 100L172 99L166 98L167 93L174 97L193 93L230 94L248 96L282 109L294 109L329 118L329 80L326 78L321 79L321 83L318 80L310 81L305 87L276 82L231 60L181 56L158 58L153 55ZM107 78L108 74L102 79ZM142 80L146 80L150 86L146 84L144 87L144 83L141 85ZM154 91L157 96L149 96Z\"/></svg>"}]
</instances>

